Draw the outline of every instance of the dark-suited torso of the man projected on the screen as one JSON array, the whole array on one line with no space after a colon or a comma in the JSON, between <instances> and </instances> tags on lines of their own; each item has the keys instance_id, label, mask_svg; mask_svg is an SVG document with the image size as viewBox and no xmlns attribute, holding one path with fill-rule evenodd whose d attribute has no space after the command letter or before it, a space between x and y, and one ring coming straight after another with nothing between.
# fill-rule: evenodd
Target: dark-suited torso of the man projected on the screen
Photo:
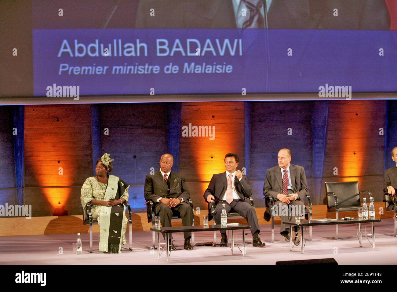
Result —
<instances>
[{"instance_id":1,"label":"dark-suited torso of the man projected on the screen","mask_svg":"<svg viewBox=\"0 0 397 292\"><path fill-rule=\"evenodd\" d=\"M240 21L243 9L247 18L250 13L260 17L252 17L249 23ZM136 27L257 28L265 27L266 19L270 29L388 30L390 27L384 0L142 0Z\"/></svg>"}]
</instances>

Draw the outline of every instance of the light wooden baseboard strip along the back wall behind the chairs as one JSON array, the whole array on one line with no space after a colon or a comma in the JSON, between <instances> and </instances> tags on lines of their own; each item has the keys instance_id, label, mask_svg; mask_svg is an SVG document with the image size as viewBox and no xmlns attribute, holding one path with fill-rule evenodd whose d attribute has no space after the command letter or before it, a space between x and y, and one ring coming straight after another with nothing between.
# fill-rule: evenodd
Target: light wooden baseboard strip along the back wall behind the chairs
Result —
<instances>
[{"instance_id":1,"label":"light wooden baseboard strip along the back wall behind the chairs","mask_svg":"<svg viewBox=\"0 0 397 292\"><path fill-rule=\"evenodd\" d=\"M381 210L384 210L384 214ZM266 208L255 208L256 215L258 216L259 224L270 224L263 219L263 214ZM393 212L385 212L385 203L375 203L376 218L392 218ZM207 210L195 211L195 225L202 224L202 215L208 214ZM314 205L312 207L313 219L320 218L335 218L335 213L328 213L326 205ZM342 212L339 213L339 218L344 216L357 217L357 212ZM230 219L230 222L239 222L247 224L245 219ZM280 218L276 217L276 224L280 223ZM212 224L212 221L209 222ZM133 213L132 214L132 230L149 230L152 223L147 222L146 213ZM180 226L180 220L173 220L173 226ZM127 227L127 231L129 226ZM47 216L47 217L32 217L26 219L25 217L15 218L0 218L0 236L16 236L16 235L37 235L37 234L69 234L69 233L88 233L89 226L83 225L82 215L70 216ZM98 225L93 225L93 232L99 232Z\"/></svg>"}]
</instances>

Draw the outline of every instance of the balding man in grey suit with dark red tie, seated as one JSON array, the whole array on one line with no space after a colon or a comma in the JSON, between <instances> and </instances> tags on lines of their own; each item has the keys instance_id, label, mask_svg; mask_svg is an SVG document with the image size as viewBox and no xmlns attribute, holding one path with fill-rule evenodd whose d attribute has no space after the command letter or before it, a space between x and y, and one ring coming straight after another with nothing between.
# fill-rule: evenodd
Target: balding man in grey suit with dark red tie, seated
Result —
<instances>
[{"instance_id":1,"label":"balding man in grey suit with dark red tie, seated","mask_svg":"<svg viewBox=\"0 0 397 292\"><path fill-rule=\"evenodd\" d=\"M307 195L306 174L304 168L291 164L291 151L281 149L277 155L278 166L266 171L263 195L271 195L274 199L274 215L281 215L280 234L289 242L289 229L283 223L295 220L295 211L303 213L303 198ZM294 209L294 210L292 210ZM285 212L287 211L287 214ZM292 238L296 245L300 244L300 234L294 226Z\"/></svg>"}]
</instances>

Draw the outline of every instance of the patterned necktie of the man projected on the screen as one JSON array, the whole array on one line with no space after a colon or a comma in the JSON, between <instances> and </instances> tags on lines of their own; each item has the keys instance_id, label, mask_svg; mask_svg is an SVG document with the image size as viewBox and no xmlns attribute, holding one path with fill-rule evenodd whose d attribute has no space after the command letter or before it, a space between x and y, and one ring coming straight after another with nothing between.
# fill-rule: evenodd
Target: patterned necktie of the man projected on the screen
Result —
<instances>
[{"instance_id":1,"label":"patterned necktie of the man projected on the screen","mask_svg":"<svg viewBox=\"0 0 397 292\"><path fill-rule=\"evenodd\" d=\"M241 0L236 15L239 27L243 29L263 28L264 21L260 13L262 5L263 0Z\"/></svg>"}]
</instances>

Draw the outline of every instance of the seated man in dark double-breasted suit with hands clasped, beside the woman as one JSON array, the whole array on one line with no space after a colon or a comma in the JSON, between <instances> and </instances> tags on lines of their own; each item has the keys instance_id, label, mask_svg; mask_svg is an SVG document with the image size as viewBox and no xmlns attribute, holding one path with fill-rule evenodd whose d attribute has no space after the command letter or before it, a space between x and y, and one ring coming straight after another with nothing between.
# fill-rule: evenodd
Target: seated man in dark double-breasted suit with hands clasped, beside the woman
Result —
<instances>
[{"instance_id":1,"label":"seated man in dark double-breasted suit with hands clasped, beside the woman","mask_svg":"<svg viewBox=\"0 0 397 292\"><path fill-rule=\"evenodd\" d=\"M145 179L145 200L152 201L156 216L160 216L163 227L171 226L171 218L180 215L183 226L192 226L193 210L189 205L190 194L186 186L185 177L171 171L173 157L171 154L163 154L160 162L160 170L154 174L148 174ZM183 248L192 250L190 243L191 232L184 232L185 244ZM170 239L168 243L171 250L176 248Z\"/></svg>"}]
</instances>

